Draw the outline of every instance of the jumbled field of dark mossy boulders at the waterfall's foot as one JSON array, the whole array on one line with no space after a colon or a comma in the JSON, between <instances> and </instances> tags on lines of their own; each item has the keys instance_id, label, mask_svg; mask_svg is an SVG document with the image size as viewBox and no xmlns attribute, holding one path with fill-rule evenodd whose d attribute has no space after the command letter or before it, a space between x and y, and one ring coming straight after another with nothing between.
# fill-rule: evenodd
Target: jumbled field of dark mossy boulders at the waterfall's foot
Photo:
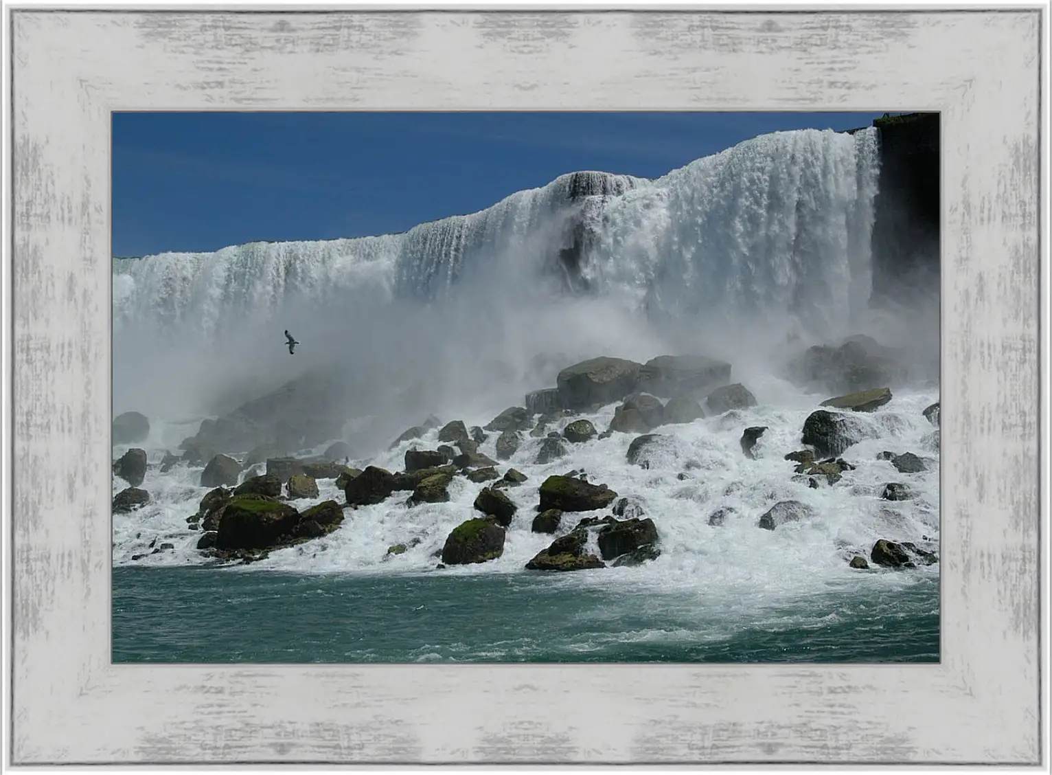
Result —
<instances>
[{"instance_id":1,"label":"jumbled field of dark mossy boulders at the waterfall's foot","mask_svg":"<svg viewBox=\"0 0 1052 775\"><path fill-rule=\"evenodd\" d=\"M541 439L533 463L548 465L564 458L572 461L575 451L613 434L627 434L634 438L625 462L647 470L674 443L677 425L714 416L733 421L735 411L756 405L752 392L731 381L731 375L730 363L702 356L664 355L645 363L592 358L563 369L553 388L527 394L523 405L508 408L485 425L468 426L460 419L442 423L431 416L407 429L390 446L406 446L401 471L373 464L353 468L348 464L349 448L342 441L330 444L321 456L281 454L290 445L317 445L333 436L331 423L319 420L319 415L311 415L302 424L290 421L302 415L318 394L310 390L305 398L296 385L286 385L246 404L247 410L243 406L226 417L202 422L198 433L181 444L181 455L169 452L153 465L161 472L175 466L201 469L200 486L210 490L197 511L186 517L186 524L201 534L196 544L201 556L215 561L256 562L274 551L315 541L337 530L353 531L352 520L347 519L350 514L383 503L396 493L411 493L404 502L407 509L446 502L451 483L458 480L477 486L478 494L471 512L463 515L463 521L434 553L437 569L501 557L507 529L524 519L531 533L553 536L524 570L568 572L639 565L663 552L661 515L647 514L645 493L619 493L606 483L591 481L585 471L571 470L546 476L532 513L523 514L522 504L517 505L507 491L522 486L529 477L501 461L514 456L528 439ZM888 501L915 497L909 477L932 464L926 452L934 453L937 459L937 403L924 410L934 426L927 450L886 451L872 460L850 462L843 457L854 444L871 437L869 426L859 418L887 404L892 389L908 379L894 351L867 337L851 337L836 345L803 352L789 364L788 376L797 384L836 393L818 402L807 417L798 445L778 452L789 481L807 489L843 488L859 466L890 462L904 476L887 481L881 497ZM268 418L263 419L261 406L270 413ZM602 431L592 419L582 416L610 406L612 419ZM422 438L436 430L436 442L423 444ZM756 459L757 442L767 431L767 426L742 426L741 454L745 458ZM140 442L149 434L148 419L125 413L115 419L113 433L115 443ZM261 438L260 434L269 436ZM495 460L480 452L480 446L490 441ZM254 445L247 453L238 451L249 443ZM769 457L771 451L765 454ZM139 488L149 465L141 448L129 449L115 461L114 476L128 484L114 497L115 514L129 514L150 502L149 493ZM681 479L690 475L687 469L680 474ZM296 501L319 497L319 480L330 481L342 491L343 502L328 499L297 509ZM713 528L730 519L750 518L757 529L775 532L787 523L814 517L813 506L793 499L780 500L752 516L728 508L699 515ZM405 553L419 541L419 537L407 535L404 542L388 548L387 556ZM159 553L170 545L151 545L150 550ZM143 556L136 555L133 560ZM911 569L937 560L935 541L922 545L896 536L845 553L845 561L857 570Z\"/></svg>"}]
</instances>

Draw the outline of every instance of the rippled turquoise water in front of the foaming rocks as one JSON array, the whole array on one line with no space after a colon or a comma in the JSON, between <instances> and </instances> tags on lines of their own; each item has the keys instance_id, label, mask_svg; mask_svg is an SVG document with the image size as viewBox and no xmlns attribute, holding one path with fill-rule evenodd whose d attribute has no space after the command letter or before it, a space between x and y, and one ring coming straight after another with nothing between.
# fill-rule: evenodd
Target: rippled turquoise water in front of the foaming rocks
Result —
<instances>
[{"instance_id":1,"label":"rippled turquoise water in front of the foaming rocks","mask_svg":"<svg viewBox=\"0 0 1052 775\"><path fill-rule=\"evenodd\" d=\"M938 577L778 604L574 574L115 568L116 662L937 662ZM861 574L864 578L867 574ZM873 579L870 579L873 580Z\"/></svg>"}]
</instances>

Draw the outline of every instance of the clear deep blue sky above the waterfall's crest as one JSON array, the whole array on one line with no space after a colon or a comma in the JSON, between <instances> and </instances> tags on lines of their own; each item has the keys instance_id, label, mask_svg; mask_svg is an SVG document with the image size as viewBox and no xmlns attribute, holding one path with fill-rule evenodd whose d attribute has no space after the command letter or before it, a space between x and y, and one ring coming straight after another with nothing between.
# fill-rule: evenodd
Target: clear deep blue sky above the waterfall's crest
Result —
<instances>
[{"instance_id":1,"label":"clear deep blue sky above the waterfall's crest","mask_svg":"<svg viewBox=\"0 0 1052 775\"><path fill-rule=\"evenodd\" d=\"M564 173L658 177L878 113L120 113L114 255L403 232Z\"/></svg>"}]
</instances>

